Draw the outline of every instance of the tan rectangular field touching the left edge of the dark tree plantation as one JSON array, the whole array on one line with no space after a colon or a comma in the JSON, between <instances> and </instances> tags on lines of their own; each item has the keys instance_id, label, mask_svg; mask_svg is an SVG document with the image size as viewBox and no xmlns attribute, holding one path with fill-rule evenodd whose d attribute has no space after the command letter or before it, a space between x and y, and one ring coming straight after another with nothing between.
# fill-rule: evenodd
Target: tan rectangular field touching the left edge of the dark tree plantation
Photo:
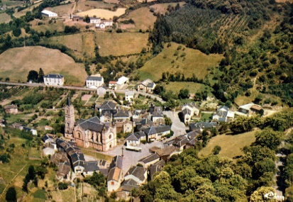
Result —
<instances>
[{"instance_id":1,"label":"tan rectangular field touching the left edge of the dark tree plantation","mask_svg":"<svg viewBox=\"0 0 293 202\"><path fill-rule=\"evenodd\" d=\"M147 47L148 33L106 33L96 32L96 45L101 56L128 55Z\"/></svg>"}]
</instances>

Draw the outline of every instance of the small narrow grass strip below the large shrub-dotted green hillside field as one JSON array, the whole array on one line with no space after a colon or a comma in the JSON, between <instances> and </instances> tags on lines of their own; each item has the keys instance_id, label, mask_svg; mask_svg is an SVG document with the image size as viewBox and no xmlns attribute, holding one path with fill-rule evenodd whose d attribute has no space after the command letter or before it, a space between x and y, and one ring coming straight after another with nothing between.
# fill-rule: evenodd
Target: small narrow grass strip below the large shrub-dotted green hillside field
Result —
<instances>
[{"instance_id":1,"label":"small narrow grass strip below the large shrub-dotted green hillside field","mask_svg":"<svg viewBox=\"0 0 293 202\"><path fill-rule=\"evenodd\" d=\"M195 94L198 91L204 90L210 91L208 86L194 82L170 82L169 84L165 85L165 89L175 93L179 93L180 89L188 89L190 94Z\"/></svg>"}]
</instances>

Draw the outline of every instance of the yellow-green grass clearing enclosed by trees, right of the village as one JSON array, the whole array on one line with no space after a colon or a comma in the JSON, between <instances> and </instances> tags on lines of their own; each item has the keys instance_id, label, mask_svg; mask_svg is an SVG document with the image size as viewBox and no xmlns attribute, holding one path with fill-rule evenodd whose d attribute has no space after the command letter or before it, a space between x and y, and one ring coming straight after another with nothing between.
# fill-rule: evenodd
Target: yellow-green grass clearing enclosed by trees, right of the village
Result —
<instances>
[{"instance_id":1,"label":"yellow-green grass clearing enclosed by trees, right of the village","mask_svg":"<svg viewBox=\"0 0 293 202\"><path fill-rule=\"evenodd\" d=\"M199 157L211 154L216 145L221 147L219 155L223 157L236 157L243 155L241 149L255 142L255 131L243 133L239 135L217 135L209 140L208 145L199 152Z\"/></svg>"}]
</instances>

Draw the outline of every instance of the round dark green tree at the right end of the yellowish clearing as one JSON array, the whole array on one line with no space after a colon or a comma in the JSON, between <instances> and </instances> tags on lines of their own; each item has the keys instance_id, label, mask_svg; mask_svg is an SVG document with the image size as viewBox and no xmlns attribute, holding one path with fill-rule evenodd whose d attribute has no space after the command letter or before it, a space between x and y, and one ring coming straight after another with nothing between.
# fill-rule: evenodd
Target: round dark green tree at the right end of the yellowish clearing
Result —
<instances>
[{"instance_id":1,"label":"round dark green tree at the right end of the yellowish clearing","mask_svg":"<svg viewBox=\"0 0 293 202\"><path fill-rule=\"evenodd\" d=\"M255 143L261 146L269 147L271 150L277 150L280 145L283 133L274 131L272 128L265 128L264 130L255 134Z\"/></svg>"}]
</instances>

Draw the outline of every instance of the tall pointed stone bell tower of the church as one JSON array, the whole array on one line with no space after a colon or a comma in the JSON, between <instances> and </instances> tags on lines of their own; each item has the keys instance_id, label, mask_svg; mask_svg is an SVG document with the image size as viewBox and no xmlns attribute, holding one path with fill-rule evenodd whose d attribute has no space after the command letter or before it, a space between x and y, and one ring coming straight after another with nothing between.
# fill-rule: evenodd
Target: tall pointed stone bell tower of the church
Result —
<instances>
[{"instance_id":1,"label":"tall pointed stone bell tower of the church","mask_svg":"<svg viewBox=\"0 0 293 202\"><path fill-rule=\"evenodd\" d=\"M67 96L67 103L65 106L65 138L73 138L74 122L74 106L70 103L70 97Z\"/></svg>"}]
</instances>

